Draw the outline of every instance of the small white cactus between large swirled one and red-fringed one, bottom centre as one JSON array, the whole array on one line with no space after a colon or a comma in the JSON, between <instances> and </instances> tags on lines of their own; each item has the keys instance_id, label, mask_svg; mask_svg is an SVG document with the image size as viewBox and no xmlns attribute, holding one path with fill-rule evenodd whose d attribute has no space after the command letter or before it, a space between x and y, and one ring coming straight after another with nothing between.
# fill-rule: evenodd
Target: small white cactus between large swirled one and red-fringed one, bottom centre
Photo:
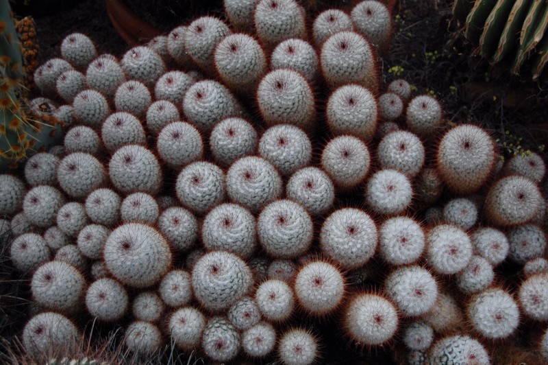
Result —
<instances>
[{"instance_id":1,"label":"small white cactus between large swirled one and red-fringed one, bottom centre","mask_svg":"<svg viewBox=\"0 0 548 365\"><path fill-rule=\"evenodd\" d=\"M290 318L295 309L295 294L285 281L263 281L255 293L255 301L263 318L269 322L282 322Z\"/></svg>"}]
</instances>

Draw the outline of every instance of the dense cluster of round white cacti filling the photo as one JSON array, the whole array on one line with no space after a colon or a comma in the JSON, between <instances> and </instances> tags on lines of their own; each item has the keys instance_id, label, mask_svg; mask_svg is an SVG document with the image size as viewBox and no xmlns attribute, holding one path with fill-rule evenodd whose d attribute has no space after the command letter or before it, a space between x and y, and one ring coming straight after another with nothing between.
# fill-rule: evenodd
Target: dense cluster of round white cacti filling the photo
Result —
<instances>
[{"instance_id":1,"label":"dense cluster of round white cacti filling the photo","mask_svg":"<svg viewBox=\"0 0 548 365\"><path fill-rule=\"evenodd\" d=\"M333 335L356 356L488 364L546 321L543 157L497 164L486 128L385 82L382 2L310 21L256 2L121 60L71 34L37 69L71 129L0 175L27 354L58 357L88 319L141 362L171 344L312 364ZM505 289L503 266L526 279Z\"/></svg>"}]
</instances>

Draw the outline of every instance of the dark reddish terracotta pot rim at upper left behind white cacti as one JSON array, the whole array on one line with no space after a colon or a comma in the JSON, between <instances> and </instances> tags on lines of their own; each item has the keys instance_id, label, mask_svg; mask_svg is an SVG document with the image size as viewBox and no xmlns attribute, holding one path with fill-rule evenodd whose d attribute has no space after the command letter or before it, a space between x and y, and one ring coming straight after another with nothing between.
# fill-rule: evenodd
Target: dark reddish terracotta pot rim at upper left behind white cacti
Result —
<instances>
[{"instance_id":1,"label":"dark reddish terracotta pot rim at upper left behind white cacti","mask_svg":"<svg viewBox=\"0 0 548 365\"><path fill-rule=\"evenodd\" d=\"M105 0L108 16L116 32L131 46L142 45L162 32L142 21L124 0Z\"/></svg>"}]
</instances>

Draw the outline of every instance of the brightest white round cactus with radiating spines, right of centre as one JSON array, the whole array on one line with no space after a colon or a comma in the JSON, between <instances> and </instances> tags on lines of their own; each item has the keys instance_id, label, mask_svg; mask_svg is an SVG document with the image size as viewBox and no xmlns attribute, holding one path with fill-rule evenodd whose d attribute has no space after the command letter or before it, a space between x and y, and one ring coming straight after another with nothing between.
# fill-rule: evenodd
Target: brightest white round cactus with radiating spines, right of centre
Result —
<instances>
[{"instance_id":1,"label":"brightest white round cactus with radiating spines, right of centre","mask_svg":"<svg viewBox=\"0 0 548 365\"><path fill-rule=\"evenodd\" d=\"M412 198L410 179L395 169L380 169L367 182L365 199L375 213L401 214L408 209Z\"/></svg>"}]
</instances>

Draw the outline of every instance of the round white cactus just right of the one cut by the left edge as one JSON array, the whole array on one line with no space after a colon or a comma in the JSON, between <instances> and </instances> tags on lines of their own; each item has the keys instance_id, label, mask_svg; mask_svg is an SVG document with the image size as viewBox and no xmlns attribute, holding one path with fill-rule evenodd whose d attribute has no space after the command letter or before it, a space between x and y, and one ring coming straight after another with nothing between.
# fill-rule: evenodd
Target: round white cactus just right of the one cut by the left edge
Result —
<instances>
[{"instance_id":1,"label":"round white cactus just right of the one cut by the left edge","mask_svg":"<svg viewBox=\"0 0 548 365\"><path fill-rule=\"evenodd\" d=\"M52 226L57 217L57 211L64 204L61 192L49 185L33 187L23 199L23 213L34 226L47 228Z\"/></svg>"}]
</instances>

